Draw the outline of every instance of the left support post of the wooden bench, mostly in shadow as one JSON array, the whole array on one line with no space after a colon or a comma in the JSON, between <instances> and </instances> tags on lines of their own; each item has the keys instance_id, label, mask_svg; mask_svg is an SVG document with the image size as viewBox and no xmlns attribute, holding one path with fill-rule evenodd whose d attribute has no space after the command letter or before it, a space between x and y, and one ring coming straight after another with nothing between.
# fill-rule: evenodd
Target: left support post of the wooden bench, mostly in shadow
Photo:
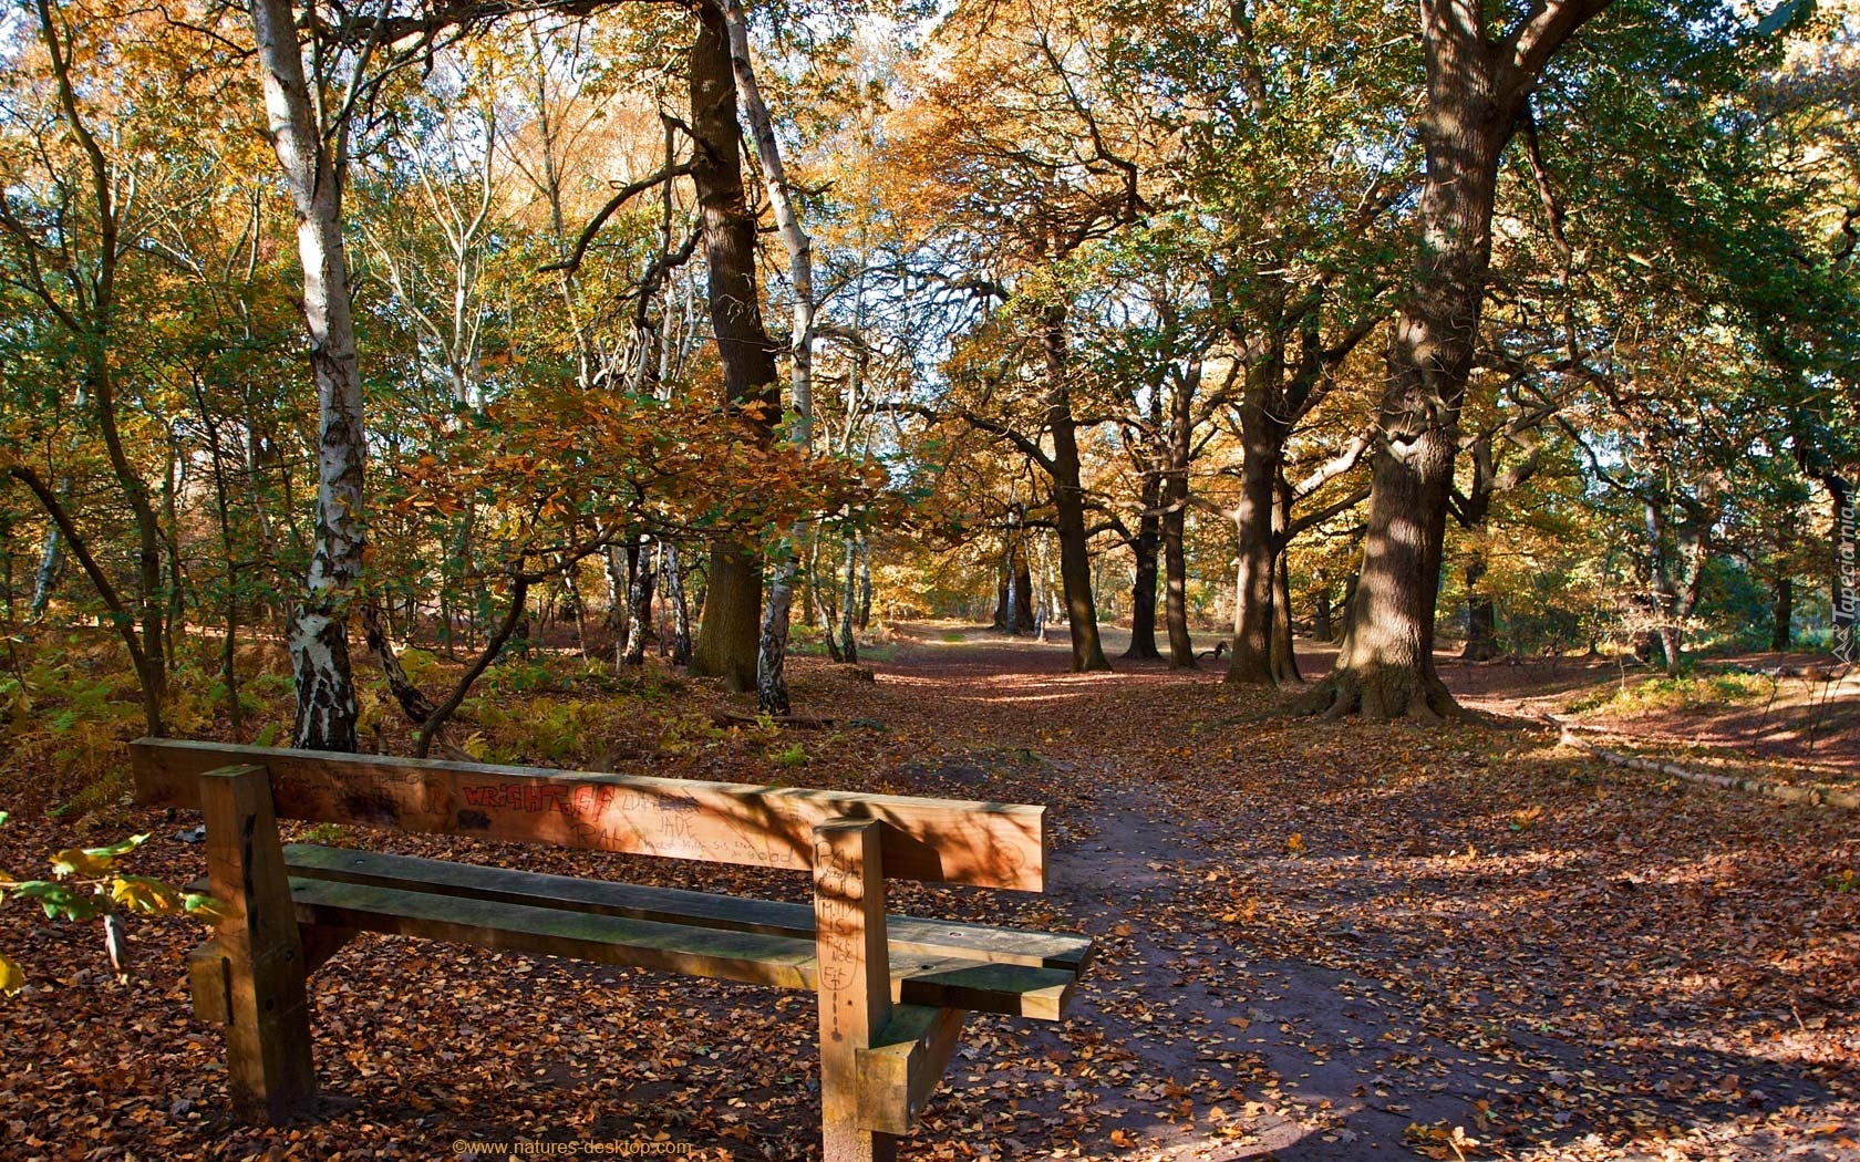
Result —
<instances>
[{"instance_id":1,"label":"left support post of the wooden bench, mostly in shadow","mask_svg":"<svg viewBox=\"0 0 1860 1162\"><path fill-rule=\"evenodd\" d=\"M262 766L227 766L201 775L206 816L206 876L225 907L206 961L221 961L227 1080L234 1110L272 1123L316 1110L311 1065L311 1006L303 943L290 878ZM203 952L206 952L203 948ZM197 985L214 976L195 963ZM208 997L197 997L195 1008Z\"/></svg>"}]
</instances>

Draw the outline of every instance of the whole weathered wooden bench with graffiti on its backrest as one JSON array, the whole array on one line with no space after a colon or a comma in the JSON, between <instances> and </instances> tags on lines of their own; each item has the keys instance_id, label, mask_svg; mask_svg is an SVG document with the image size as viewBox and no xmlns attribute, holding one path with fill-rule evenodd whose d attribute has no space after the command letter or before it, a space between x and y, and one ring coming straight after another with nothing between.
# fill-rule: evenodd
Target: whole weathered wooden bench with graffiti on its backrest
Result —
<instances>
[{"instance_id":1,"label":"whole weathered wooden bench with graffiti on its backrest","mask_svg":"<svg viewBox=\"0 0 1860 1162\"><path fill-rule=\"evenodd\" d=\"M147 805L206 822L193 1010L246 1117L314 1112L307 980L357 931L818 995L828 1162L891 1158L965 1011L1058 1021L1086 937L885 915L885 881L1042 891L1045 809L143 738ZM285 846L277 820L792 868L813 905Z\"/></svg>"}]
</instances>

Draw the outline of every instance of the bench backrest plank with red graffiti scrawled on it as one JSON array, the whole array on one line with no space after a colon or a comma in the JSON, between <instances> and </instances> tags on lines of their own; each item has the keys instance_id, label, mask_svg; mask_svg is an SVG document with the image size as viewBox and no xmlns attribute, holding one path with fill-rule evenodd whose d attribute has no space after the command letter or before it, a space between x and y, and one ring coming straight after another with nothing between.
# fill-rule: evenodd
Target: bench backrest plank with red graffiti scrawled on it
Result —
<instances>
[{"instance_id":1,"label":"bench backrest plank with red graffiti scrawled on it","mask_svg":"<svg viewBox=\"0 0 1860 1162\"><path fill-rule=\"evenodd\" d=\"M869 796L649 775L543 772L385 755L331 755L218 742L130 744L143 803L197 807L199 775L264 764L279 818L547 842L707 863L809 870L813 829L885 824L895 879L1017 891L1045 887L1045 809Z\"/></svg>"}]
</instances>

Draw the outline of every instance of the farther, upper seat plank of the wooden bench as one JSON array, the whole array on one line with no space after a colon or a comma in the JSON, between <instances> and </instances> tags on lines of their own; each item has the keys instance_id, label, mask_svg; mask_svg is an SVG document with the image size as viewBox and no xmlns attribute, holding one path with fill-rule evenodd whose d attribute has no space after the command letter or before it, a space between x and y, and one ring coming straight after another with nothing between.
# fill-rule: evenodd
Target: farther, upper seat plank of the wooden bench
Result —
<instances>
[{"instance_id":1,"label":"farther, upper seat plank of the wooden bench","mask_svg":"<svg viewBox=\"0 0 1860 1162\"><path fill-rule=\"evenodd\" d=\"M352 848L286 844L285 866L292 876L435 892L497 904L558 907L603 917L632 917L664 924L696 924L735 931L759 931L811 941L815 911L809 904L744 900L666 887L640 887L575 876L545 876L517 868L385 855ZM1084 971L1092 941L1058 931L1019 931L984 924L950 924L913 917L885 917L893 952L910 956L958 956L963 959Z\"/></svg>"}]
</instances>

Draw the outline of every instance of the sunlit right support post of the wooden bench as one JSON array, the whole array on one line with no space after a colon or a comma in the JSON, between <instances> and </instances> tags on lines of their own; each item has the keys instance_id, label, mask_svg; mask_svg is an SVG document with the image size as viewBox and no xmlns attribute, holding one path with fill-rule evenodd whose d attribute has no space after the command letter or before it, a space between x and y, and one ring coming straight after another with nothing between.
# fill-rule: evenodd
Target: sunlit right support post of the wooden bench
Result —
<instances>
[{"instance_id":1,"label":"sunlit right support post of the wooden bench","mask_svg":"<svg viewBox=\"0 0 1860 1162\"><path fill-rule=\"evenodd\" d=\"M820 1121L826 1162L893 1162L898 1140L859 1117L859 1050L891 1015L885 872L878 820L815 827L815 952L820 967Z\"/></svg>"}]
</instances>

